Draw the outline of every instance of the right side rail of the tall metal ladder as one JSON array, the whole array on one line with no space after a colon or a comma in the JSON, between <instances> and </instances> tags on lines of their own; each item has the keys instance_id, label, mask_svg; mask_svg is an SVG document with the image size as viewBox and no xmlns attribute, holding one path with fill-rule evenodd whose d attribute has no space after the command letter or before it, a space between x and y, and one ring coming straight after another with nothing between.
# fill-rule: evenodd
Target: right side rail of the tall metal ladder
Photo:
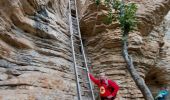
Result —
<instances>
[{"instance_id":1,"label":"right side rail of the tall metal ladder","mask_svg":"<svg viewBox=\"0 0 170 100\"><path fill-rule=\"evenodd\" d=\"M89 69L88 69L88 66L87 66L87 60L86 60L86 55L85 55L85 52L84 52L84 47L83 47L83 42L82 42L82 39L81 39L81 34L80 34L80 25L79 25L79 18L78 18L78 11L77 11L77 1L75 1L75 10L76 10L76 20L77 20L77 25L78 25L78 33L79 33L79 37L80 37L80 42L81 42L81 50L82 50L82 54L83 54L83 58L84 58L84 61L85 61L85 67L87 69L87 72L89 72ZM94 97L94 92L93 92L93 88L92 88L92 83L91 83L91 80L89 78L89 74L87 74L88 76L88 80L89 80L89 84L90 84L90 90L91 90L91 94L92 94L92 100L95 100L95 97Z\"/></svg>"}]
</instances>

